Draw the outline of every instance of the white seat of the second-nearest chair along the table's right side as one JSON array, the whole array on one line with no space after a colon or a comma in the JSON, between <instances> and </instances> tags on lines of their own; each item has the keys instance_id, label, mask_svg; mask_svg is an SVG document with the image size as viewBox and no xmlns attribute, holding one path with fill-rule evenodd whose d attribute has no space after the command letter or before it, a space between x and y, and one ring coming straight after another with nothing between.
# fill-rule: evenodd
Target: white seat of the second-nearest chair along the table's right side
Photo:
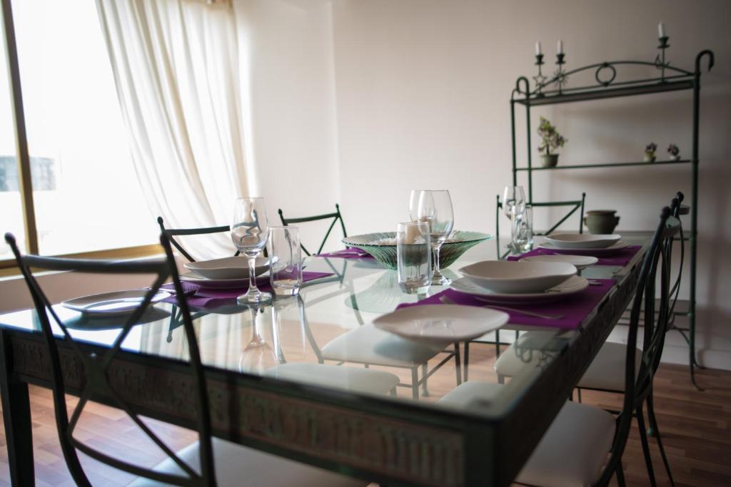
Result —
<instances>
[{"instance_id":1,"label":"white seat of the second-nearest chair along the table's right side","mask_svg":"<svg viewBox=\"0 0 731 487\"><path fill-rule=\"evenodd\" d=\"M594 361L584 373L579 388L604 389L607 391L624 391L624 361L627 347L624 343L605 342ZM515 345L510 345L495 361L495 372L505 377L515 377L525 367L537 367L540 353L518 356ZM635 350L635 375L640 371L642 350Z\"/></svg>"}]
</instances>

